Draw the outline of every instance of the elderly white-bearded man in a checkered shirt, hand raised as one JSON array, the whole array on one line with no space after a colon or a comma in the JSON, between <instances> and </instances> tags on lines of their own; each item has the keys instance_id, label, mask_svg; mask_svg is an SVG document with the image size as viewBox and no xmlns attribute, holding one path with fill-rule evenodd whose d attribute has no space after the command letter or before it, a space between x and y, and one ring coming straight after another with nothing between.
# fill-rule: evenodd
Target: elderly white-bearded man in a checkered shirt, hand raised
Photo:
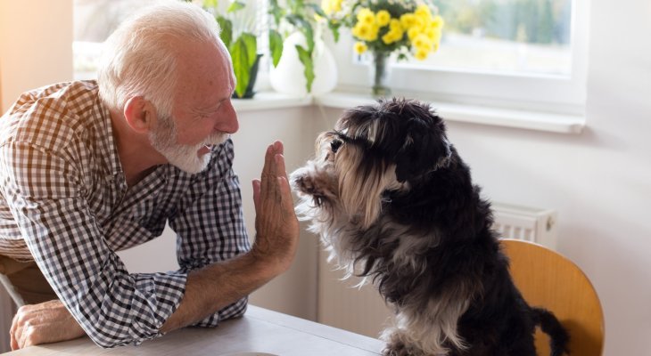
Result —
<instances>
[{"instance_id":1,"label":"elderly white-bearded man in a checkered shirt, hand raised","mask_svg":"<svg viewBox=\"0 0 651 356\"><path fill-rule=\"evenodd\" d=\"M147 8L107 40L100 67L96 83L24 93L0 119L0 273L31 304L13 320L13 349L215 326L242 315L296 251L280 142L253 182L249 245L231 167L235 78L209 14ZM180 270L129 273L115 252L165 223Z\"/></svg>"}]
</instances>

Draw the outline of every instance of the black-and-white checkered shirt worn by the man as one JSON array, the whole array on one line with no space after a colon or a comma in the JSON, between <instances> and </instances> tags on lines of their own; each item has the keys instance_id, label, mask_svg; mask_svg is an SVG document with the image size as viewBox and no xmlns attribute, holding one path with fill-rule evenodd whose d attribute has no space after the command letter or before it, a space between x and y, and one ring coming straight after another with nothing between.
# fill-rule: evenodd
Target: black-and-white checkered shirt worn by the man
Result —
<instances>
[{"instance_id":1,"label":"black-and-white checkered shirt worn by the man","mask_svg":"<svg viewBox=\"0 0 651 356\"><path fill-rule=\"evenodd\" d=\"M200 174L157 166L128 188L94 81L24 93L0 117L0 255L34 259L95 344L161 336L188 271L250 249L233 157L229 140ZM180 270L129 273L115 252L160 236L166 222ZM240 316L246 303L197 325Z\"/></svg>"}]
</instances>

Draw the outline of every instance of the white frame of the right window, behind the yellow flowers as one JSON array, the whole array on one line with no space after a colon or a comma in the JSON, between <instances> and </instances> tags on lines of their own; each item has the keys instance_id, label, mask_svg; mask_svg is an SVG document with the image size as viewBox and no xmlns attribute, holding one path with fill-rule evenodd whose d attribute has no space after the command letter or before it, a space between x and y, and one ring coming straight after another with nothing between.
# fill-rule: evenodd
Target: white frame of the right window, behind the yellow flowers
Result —
<instances>
[{"instance_id":1,"label":"white frame of the right window, behind the yellow flowers","mask_svg":"<svg viewBox=\"0 0 651 356\"><path fill-rule=\"evenodd\" d=\"M573 0L572 6L572 67L569 77L423 68L400 62L391 65L389 85L393 94L426 93L436 100L460 104L583 115L588 71L589 2ZM358 60L353 52L350 32L342 31L336 44L332 40L328 42L339 66L337 89L359 92L362 85L370 85L368 63Z\"/></svg>"}]
</instances>

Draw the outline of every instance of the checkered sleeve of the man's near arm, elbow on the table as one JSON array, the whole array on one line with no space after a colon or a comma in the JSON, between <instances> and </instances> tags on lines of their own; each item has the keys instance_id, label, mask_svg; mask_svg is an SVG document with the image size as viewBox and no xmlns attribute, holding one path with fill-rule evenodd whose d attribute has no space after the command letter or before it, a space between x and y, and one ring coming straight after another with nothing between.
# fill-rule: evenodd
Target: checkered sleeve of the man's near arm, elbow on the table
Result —
<instances>
[{"instance_id":1,"label":"checkered sleeve of the man's near arm, elbow on the table","mask_svg":"<svg viewBox=\"0 0 651 356\"><path fill-rule=\"evenodd\" d=\"M78 150L26 143L0 148L0 190L45 279L102 347L160 336L185 292L184 271L129 274L103 238L78 167Z\"/></svg>"}]
</instances>

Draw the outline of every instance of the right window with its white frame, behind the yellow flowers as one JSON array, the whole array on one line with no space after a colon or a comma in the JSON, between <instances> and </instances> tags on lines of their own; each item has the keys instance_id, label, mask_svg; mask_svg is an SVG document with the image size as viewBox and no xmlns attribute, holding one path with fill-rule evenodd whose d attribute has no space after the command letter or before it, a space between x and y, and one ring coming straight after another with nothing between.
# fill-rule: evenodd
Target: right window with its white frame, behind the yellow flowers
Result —
<instances>
[{"instance_id":1,"label":"right window with its white frame, behind the yellow flowers","mask_svg":"<svg viewBox=\"0 0 651 356\"><path fill-rule=\"evenodd\" d=\"M446 21L439 52L394 63L391 87L454 101L582 114L588 3L576 0L433 0ZM335 45L342 88L367 83L350 36Z\"/></svg>"}]
</instances>

